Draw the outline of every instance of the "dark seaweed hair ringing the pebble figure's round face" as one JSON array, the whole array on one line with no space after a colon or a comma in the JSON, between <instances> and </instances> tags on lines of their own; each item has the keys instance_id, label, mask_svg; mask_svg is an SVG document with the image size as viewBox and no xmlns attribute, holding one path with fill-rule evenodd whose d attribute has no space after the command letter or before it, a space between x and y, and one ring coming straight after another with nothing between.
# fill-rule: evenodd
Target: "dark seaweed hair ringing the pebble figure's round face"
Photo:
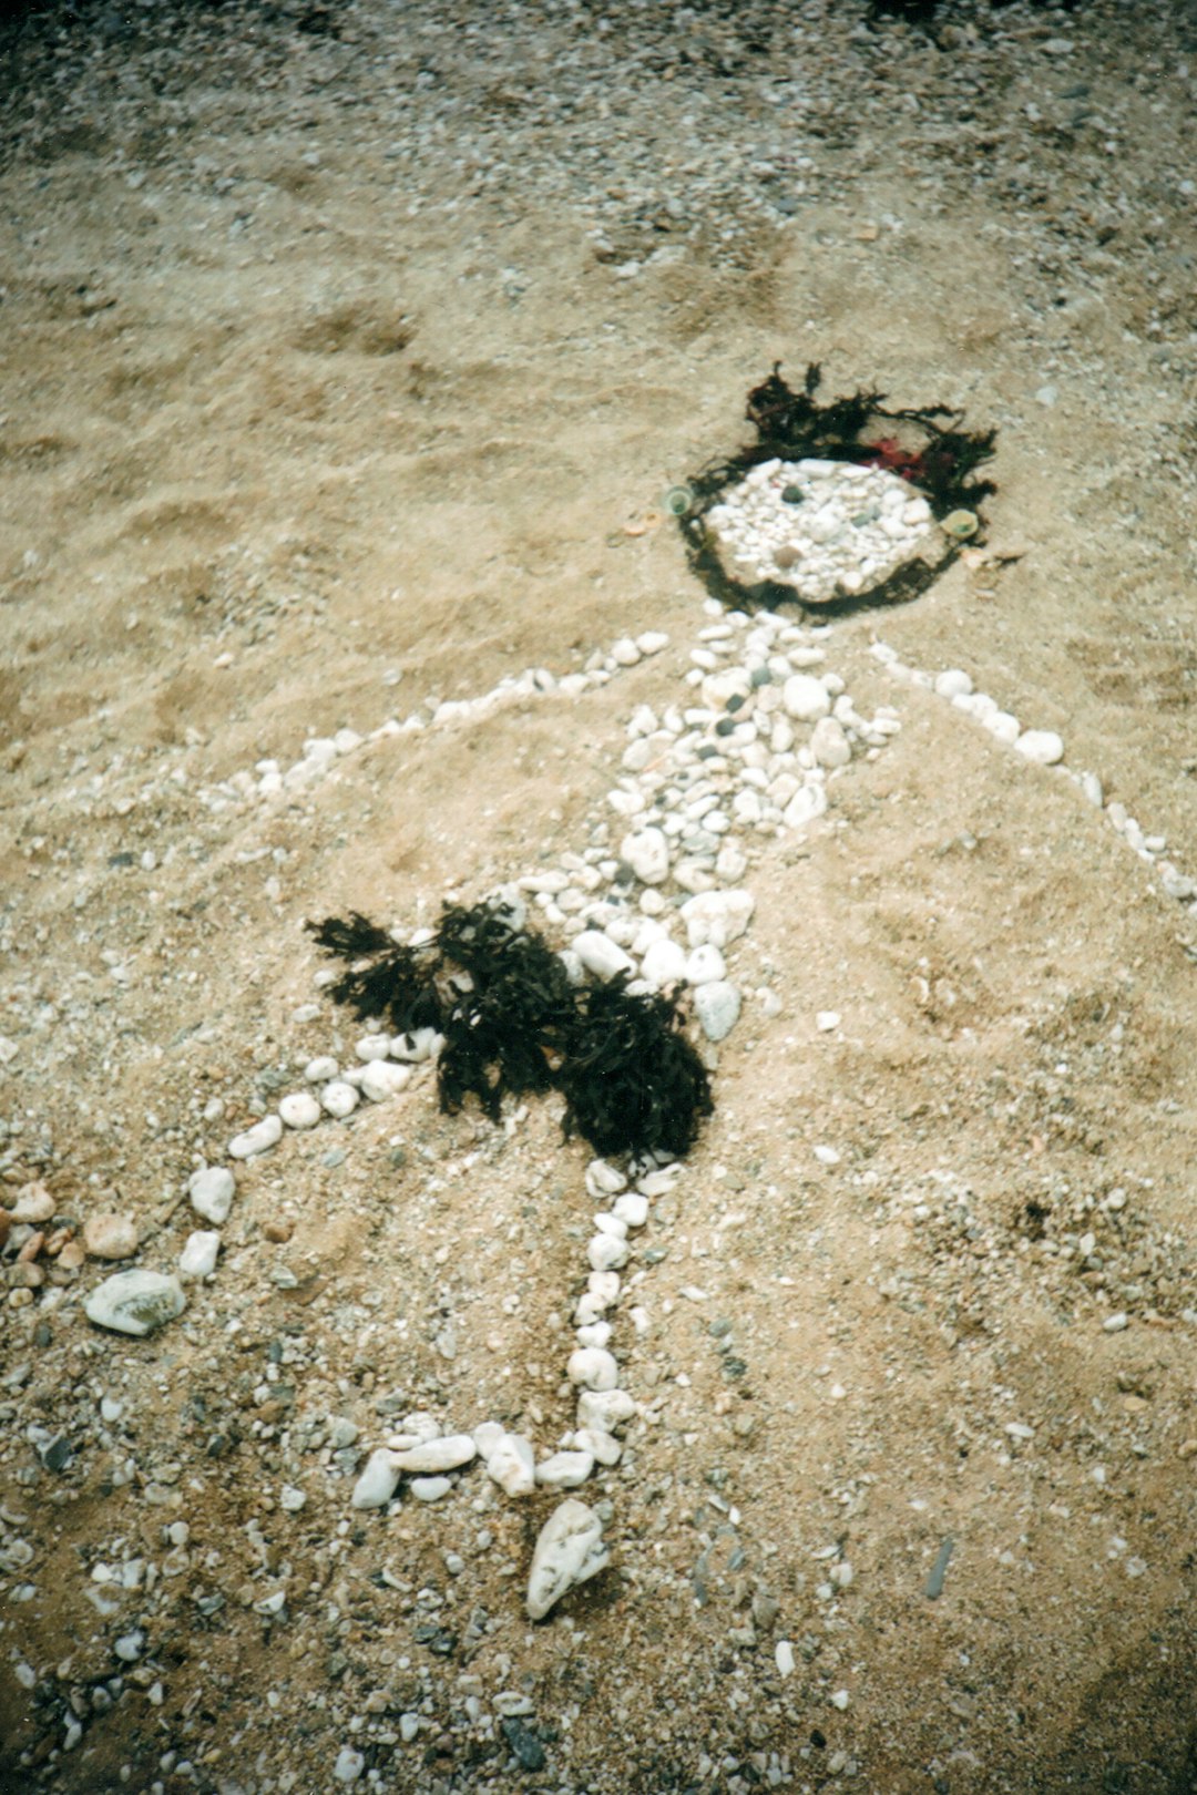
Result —
<instances>
[{"instance_id":1,"label":"dark seaweed hair ringing the pebble figure's round face","mask_svg":"<svg viewBox=\"0 0 1197 1795\"><path fill-rule=\"evenodd\" d=\"M976 479L976 468L994 452L996 431L965 431L964 418L948 406L908 407L890 411L885 393L861 390L847 398L833 398L820 406L815 398L822 384L818 363L806 370L802 390L795 391L781 377L781 363L759 386L748 393L747 418L756 429L756 442L725 461L711 461L687 486L691 503L678 515L691 569L720 603L741 610L761 607L799 605L802 598L791 585L763 580L741 585L725 573L718 549L703 519L718 504L729 486L739 485L750 468L761 461L800 461L806 456L820 461L869 463L876 458L879 442L901 429L912 449L904 456L910 479L935 517L969 510L980 517L980 506L998 488L991 479ZM983 521L982 521L983 522ZM973 538L976 540L976 538ZM869 605L892 605L924 592L933 580L957 558L962 542L944 538L935 564L915 560L899 567L878 585L851 598L811 605L820 616L842 616Z\"/></svg>"}]
</instances>

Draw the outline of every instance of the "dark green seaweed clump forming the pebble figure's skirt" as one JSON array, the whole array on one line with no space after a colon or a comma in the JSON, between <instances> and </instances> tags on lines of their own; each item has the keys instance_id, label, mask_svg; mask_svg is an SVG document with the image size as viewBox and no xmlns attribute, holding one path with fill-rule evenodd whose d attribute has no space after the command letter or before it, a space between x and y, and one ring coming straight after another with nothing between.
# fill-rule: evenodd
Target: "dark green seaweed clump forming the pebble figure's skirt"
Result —
<instances>
[{"instance_id":1,"label":"dark green seaweed clump forming the pebble figure's skirt","mask_svg":"<svg viewBox=\"0 0 1197 1795\"><path fill-rule=\"evenodd\" d=\"M711 1081L677 1002L608 984L574 985L544 937L502 905L445 905L413 946L359 912L309 923L346 960L332 996L361 1020L443 1038L436 1064L449 1115L476 1097L492 1122L504 1097L560 1090L565 1134L598 1154L680 1158L711 1115Z\"/></svg>"}]
</instances>

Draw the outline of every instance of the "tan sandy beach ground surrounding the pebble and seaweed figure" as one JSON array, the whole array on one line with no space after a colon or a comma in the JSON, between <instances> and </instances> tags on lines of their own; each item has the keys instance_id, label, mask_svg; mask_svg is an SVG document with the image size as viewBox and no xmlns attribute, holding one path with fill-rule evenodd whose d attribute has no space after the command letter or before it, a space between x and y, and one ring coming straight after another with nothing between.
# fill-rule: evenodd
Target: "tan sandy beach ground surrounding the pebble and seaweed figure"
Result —
<instances>
[{"instance_id":1,"label":"tan sandy beach ground surrounding the pebble and seaweed figure","mask_svg":"<svg viewBox=\"0 0 1197 1795\"><path fill-rule=\"evenodd\" d=\"M869 652L967 668L1197 872L1197 39L944 16L4 27L5 1201L129 1213L170 1267L196 1156L350 1052L303 919L415 926L594 840L630 711L712 621L660 495L773 361L996 425L1019 551L824 644L903 731L750 847L734 976L781 1009L748 1002L650 1224L648 1413L583 1492L612 1569L547 1623L547 1497L348 1493L416 1405L567 1425L590 1204L551 1102L443 1118L425 1073L289 1138L144 1343L83 1318L111 1267L25 1289L13 1237L5 1790L332 1790L346 1745L420 1791L1197 1788L1197 919L1066 774ZM239 777L644 630L669 648L585 696Z\"/></svg>"}]
</instances>

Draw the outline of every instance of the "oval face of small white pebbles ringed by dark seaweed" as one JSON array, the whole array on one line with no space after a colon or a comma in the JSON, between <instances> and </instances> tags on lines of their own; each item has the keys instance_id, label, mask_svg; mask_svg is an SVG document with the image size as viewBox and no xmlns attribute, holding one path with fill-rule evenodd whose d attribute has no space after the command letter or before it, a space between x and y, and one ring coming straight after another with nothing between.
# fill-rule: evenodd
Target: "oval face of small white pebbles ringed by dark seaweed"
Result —
<instances>
[{"instance_id":1,"label":"oval face of small white pebbles ringed by dark seaweed","mask_svg":"<svg viewBox=\"0 0 1197 1795\"><path fill-rule=\"evenodd\" d=\"M725 573L788 585L806 605L856 598L944 537L908 481L851 461L759 461L705 515Z\"/></svg>"}]
</instances>

